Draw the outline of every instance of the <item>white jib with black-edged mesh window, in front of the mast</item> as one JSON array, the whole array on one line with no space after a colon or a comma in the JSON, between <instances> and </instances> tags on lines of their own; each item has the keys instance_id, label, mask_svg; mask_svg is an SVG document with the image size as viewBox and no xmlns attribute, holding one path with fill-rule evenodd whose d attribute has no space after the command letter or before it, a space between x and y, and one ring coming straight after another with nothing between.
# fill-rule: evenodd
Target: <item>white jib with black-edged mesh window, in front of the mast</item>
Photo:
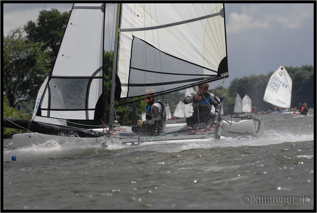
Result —
<instances>
[{"instance_id":1,"label":"white jib with black-edged mesh window, in front of the mast","mask_svg":"<svg viewBox=\"0 0 317 213\"><path fill-rule=\"evenodd\" d=\"M104 10L101 3L74 4L36 115L100 119ZM100 111L96 112L99 98Z\"/></svg>"}]
</instances>

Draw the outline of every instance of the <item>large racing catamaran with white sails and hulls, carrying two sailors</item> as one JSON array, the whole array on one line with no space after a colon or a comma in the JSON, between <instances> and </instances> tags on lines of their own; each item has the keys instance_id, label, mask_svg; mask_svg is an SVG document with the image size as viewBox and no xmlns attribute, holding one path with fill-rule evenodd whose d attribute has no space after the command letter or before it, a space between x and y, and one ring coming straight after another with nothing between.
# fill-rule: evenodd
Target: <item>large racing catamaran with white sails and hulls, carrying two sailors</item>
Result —
<instances>
[{"instance_id":1,"label":"large racing catamaran with white sails and hulls, carrying two sailors","mask_svg":"<svg viewBox=\"0 0 317 213\"><path fill-rule=\"evenodd\" d=\"M103 52L106 5L74 4L55 65L49 75L36 116L62 120L100 120L103 116ZM106 15L107 16L107 15ZM225 10L223 3L117 4L109 125L82 129L40 121L3 119L11 128L31 133L13 136L13 146L42 143L56 137L81 137L87 143L107 147L109 143L150 145L153 143L203 143L260 137L263 122L256 117L222 118L211 131L187 134L186 124L166 124L164 134L135 134L129 126L115 122L116 107L134 104L138 98L116 104L115 100L162 96L199 84L224 81L229 76ZM234 119L238 119L234 121ZM14 150L13 150L14 151ZM7 157L15 152L4 151ZM18 159L18 156L15 158Z\"/></svg>"}]
</instances>

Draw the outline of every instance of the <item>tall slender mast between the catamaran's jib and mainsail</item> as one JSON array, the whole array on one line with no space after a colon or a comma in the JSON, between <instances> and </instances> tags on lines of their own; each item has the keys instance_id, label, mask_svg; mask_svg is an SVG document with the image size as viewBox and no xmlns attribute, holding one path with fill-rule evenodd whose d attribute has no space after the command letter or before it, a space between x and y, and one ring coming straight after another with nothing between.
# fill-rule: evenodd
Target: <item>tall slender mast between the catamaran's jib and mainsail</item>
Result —
<instances>
[{"instance_id":1,"label":"tall slender mast between the catamaran's jib and mainsail","mask_svg":"<svg viewBox=\"0 0 317 213\"><path fill-rule=\"evenodd\" d=\"M112 81L111 81L111 98L110 98L110 111L109 111L109 128L112 128L114 121L114 92L116 88L115 78L117 73L117 55L118 55L118 45L119 45L119 26L120 26L120 14L121 14L121 4L117 4L117 18L116 18L116 30L114 39L114 52L113 52L113 68L112 68Z\"/></svg>"}]
</instances>

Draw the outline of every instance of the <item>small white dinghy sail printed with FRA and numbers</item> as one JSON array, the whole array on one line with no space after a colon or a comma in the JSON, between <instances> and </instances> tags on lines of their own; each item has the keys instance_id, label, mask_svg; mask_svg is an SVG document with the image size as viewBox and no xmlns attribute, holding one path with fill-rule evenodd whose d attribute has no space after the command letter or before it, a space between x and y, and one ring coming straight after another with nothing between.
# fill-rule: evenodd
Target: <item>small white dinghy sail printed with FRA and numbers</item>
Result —
<instances>
[{"instance_id":1,"label":"small white dinghy sail printed with FRA and numbers","mask_svg":"<svg viewBox=\"0 0 317 213\"><path fill-rule=\"evenodd\" d=\"M292 98L292 79L281 65L268 81L263 100L281 108L290 108Z\"/></svg>"}]
</instances>

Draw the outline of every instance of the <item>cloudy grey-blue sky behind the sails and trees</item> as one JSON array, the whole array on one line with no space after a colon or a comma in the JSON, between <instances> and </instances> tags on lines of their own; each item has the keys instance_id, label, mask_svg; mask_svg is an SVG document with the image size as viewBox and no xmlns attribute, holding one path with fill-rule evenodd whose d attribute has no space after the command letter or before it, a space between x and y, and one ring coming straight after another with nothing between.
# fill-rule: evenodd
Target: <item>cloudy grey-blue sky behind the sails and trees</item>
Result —
<instances>
[{"instance_id":1,"label":"cloudy grey-blue sky behind the sails and trees","mask_svg":"<svg viewBox=\"0 0 317 213\"><path fill-rule=\"evenodd\" d=\"M3 35L36 21L44 3L4 3ZM72 4L47 3L45 10L71 10ZM281 64L314 65L314 3L225 4L229 78L268 74ZM217 86L212 83L210 86Z\"/></svg>"}]
</instances>

